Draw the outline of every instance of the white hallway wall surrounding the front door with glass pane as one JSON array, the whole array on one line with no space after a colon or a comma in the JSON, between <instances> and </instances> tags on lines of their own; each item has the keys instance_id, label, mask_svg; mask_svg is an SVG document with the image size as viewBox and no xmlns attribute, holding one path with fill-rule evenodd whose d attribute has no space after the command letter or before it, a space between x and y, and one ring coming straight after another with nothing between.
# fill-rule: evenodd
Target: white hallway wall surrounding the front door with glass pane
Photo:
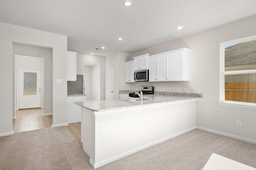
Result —
<instances>
[{"instance_id":1,"label":"white hallway wall surrounding the front door with glass pane","mask_svg":"<svg viewBox=\"0 0 256 170\"><path fill-rule=\"evenodd\" d=\"M15 55L30 56L30 57L34 57L35 59L39 57L44 59L44 63L43 63L44 114L46 115L52 114L52 48L13 43L12 55L13 55L13 59ZM36 64L34 62L32 63L32 61L30 60L33 60L33 58L30 58L29 61L27 61L26 58L22 58L22 61L24 62L22 65L19 65L19 66L27 67L27 68L28 67L35 68ZM15 69L15 73L16 73L16 69ZM16 77L15 77L15 80L16 80ZM14 89L16 90L16 86L14 87ZM16 101L15 101L15 108L16 108Z\"/></svg>"}]
</instances>

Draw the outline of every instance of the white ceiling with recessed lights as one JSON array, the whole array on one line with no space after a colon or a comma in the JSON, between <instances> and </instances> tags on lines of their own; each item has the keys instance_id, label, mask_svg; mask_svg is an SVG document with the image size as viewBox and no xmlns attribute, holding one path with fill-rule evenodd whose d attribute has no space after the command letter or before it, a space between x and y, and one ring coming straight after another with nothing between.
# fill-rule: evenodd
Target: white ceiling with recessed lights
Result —
<instances>
[{"instance_id":1,"label":"white ceiling with recessed lights","mask_svg":"<svg viewBox=\"0 0 256 170\"><path fill-rule=\"evenodd\" d=\"M100 56L134 53L254 15L256 0L132 0L130 7L123 0L0 0L0 22L67 35L68 51Z\"/></svg>"}]
</instances>

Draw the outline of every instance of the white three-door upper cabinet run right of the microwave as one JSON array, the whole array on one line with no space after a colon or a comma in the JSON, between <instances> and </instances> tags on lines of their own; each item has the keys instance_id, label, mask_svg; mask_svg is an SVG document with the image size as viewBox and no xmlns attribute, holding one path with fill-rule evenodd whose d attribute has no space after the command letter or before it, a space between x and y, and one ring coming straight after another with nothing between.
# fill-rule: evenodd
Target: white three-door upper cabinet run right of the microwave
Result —
<instances>
[{"instance_id":1,"label":"white three-door upper cabinet run right of the microwave","mask_svg":"<svg viewBox=\"0 0 256 170\"><path fill-rule=\"evenodd\" d=\"M149 81L189 81L190 49L182 48L149 57Z\"/></svg>"}]
</instances>

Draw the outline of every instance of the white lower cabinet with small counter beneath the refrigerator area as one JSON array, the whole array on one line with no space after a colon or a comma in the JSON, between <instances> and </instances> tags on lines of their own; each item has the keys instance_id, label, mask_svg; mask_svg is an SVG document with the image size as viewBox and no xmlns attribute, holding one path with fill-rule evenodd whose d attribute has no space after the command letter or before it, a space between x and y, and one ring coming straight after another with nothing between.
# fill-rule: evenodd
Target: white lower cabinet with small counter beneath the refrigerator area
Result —
<instances>
[{"instance_id":1,"label":"white lower cabinet with small counter beneath the refrigerator area","mask_svg":"<svg viewBox=\"0 0 256 170\"><path fill-rule=\"evenodd\" d=\"M74 102L84 102L85 96L69 96L68 97L68 123L81 121L82 109Z\"/></svg>"}]
</instances>

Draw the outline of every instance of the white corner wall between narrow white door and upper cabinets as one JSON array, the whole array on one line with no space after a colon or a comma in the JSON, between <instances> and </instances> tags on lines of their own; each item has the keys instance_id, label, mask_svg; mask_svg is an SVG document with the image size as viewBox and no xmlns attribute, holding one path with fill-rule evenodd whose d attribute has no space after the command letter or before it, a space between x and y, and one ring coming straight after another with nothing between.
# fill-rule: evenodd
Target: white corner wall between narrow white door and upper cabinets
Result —
<instances>
[{"instance_id":1,"label":"white corner wall between narrow white door and upper cabinets","mask_svg":"<svg viewBox=\"0 0 256 170\"><path fill-rule=\"evenodd\" d=\"M130 60L130 54L116 52L106 56L105 67L114 67L114 99L119 98L119 90L130 89L130 83L125 82L124 62Z\"/></svg>"}]
</instances>

